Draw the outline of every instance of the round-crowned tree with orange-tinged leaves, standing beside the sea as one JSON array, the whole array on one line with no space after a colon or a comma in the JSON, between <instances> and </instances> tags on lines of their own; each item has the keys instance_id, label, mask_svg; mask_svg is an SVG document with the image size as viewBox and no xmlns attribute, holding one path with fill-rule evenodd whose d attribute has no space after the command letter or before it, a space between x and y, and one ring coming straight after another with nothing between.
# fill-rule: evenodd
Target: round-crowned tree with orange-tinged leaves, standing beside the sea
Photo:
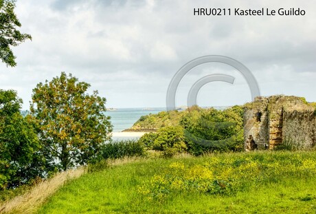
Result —
<instances>
[{"instance_id":1,"label":"round-crowned tree with orange-tinged leaves, standing beside the sea","mask_svg":"<svg viewBox=\"0 0 316 214\"><path fill-rule=\"evenodd\" d=\"M88 83L64 72L33 89L31 113L50 167L67 170L86 164L110 140L112 125L105 116L106 99L87 94Z\"/></svg>"}]
</instances>

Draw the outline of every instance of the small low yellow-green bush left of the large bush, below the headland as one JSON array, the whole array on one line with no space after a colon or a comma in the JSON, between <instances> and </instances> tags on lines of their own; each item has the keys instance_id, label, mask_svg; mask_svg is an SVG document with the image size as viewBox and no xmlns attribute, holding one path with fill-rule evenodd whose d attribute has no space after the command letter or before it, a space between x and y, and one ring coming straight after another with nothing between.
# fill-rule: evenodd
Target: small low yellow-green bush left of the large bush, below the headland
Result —
<instances>
[{"instance_id":1,"label":"small low yellow-green bush left of the large bush, below the headland","mask_svg":"<svg viewBox=\"0 0 316 214\"><path fill-rule=\"evenodd\" d=\"M174 156L187 149L183 128L180 126L163 127L156 133L146 133L139 138L139 142L144 143L147 149L163 151L163 156L166 157Z\"/></svg>"}]
</instances>

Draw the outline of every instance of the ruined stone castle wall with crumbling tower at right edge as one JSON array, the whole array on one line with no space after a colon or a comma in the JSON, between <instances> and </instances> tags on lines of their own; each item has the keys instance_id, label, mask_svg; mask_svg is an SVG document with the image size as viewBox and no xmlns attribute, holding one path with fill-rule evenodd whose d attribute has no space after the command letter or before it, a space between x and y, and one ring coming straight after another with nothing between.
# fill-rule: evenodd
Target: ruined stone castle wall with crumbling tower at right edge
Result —
<instances>
[{"instance_id":1,"label":"ruined stone castle wall with crumbling tower at right edge","mask_svg":"<svg viewBox=\"0 0 316 214\"><path fill-rule=\"evenodd\" d=\"M296 96L257 97L244 111L245 150L315 146L315 108Z\"/></svg>"}]
</instances>

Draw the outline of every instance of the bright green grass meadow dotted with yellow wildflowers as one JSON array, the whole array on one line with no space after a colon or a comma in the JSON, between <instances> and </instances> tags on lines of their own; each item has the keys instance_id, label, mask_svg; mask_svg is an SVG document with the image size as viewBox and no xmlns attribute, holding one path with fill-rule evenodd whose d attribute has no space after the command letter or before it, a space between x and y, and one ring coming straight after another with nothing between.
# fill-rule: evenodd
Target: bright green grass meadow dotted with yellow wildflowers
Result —
<instances>
[{"instance_id":1,"label":"bright green grass meadow dotted with yellow wildflowers","mask_svg":"<svg viewBox=\"0 0 316 214\"><path fill-rule=\"evenodd\" d=\"M315 213L315 164L315 151L139 159L65 184L38 213Z\"/></svg>"}]
</instances>

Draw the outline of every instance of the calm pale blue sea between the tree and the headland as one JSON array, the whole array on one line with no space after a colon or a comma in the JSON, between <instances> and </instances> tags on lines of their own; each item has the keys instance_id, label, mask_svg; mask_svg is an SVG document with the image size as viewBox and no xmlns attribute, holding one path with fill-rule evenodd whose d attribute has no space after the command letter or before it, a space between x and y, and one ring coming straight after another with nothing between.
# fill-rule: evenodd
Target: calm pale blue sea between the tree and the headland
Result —
<instances>
[{"instance_id":1,"label":"calm pale blue sea between the tree and the headland","mask_svg":"<svg viewBox=\"0 0 316 214\"><path fill-rule=\"evenodd\" d=\"M111 116L113 131L123 131L133 126L133 124L144 115L157 114L160 111L166 111L166 108L133 108L133 109L116 109L107 110L106 115Z\"/></svg>"}]
</instances>

